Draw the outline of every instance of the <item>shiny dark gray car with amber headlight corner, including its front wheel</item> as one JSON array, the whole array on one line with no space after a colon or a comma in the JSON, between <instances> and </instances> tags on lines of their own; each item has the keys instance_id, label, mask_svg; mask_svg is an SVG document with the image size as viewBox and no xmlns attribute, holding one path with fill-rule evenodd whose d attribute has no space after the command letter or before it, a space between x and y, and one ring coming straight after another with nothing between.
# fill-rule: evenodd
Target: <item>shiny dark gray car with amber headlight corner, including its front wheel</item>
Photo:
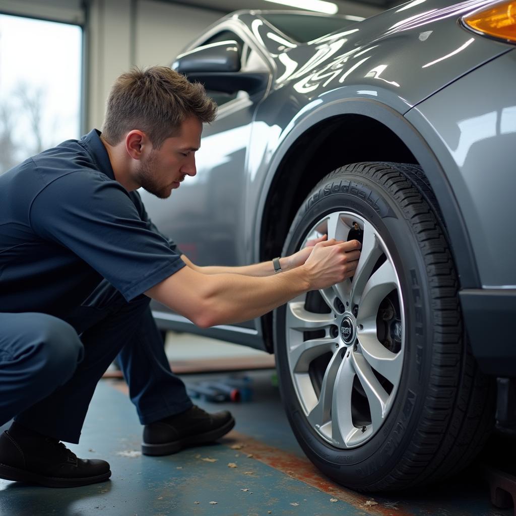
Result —
<instances>
[{"instance_id":1,"label":"shiny dark gray car with amber headlight corner, including its front wheel","mask_svg":"<svg viewBox=\"0 0 516 516\"><path fill-rule=\"evenodd\" d=\"M357 18L238 11L173 67L219 104L158 228L198 265L357 238L352 279L258 320L163 329L276 354L319 469L362 491L443 479L516 427L516 2ZM497 402L497 406L496 406ZM495 413L496 407L496 413Z\"/></svg>"}]
</instances>

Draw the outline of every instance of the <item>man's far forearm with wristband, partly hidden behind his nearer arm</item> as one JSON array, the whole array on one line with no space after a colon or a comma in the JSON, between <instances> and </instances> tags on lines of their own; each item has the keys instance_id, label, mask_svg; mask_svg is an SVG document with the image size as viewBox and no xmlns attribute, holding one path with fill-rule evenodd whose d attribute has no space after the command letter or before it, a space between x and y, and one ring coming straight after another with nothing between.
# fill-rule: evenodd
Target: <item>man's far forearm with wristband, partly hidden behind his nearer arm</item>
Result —
<instances>
[{"instance_id":1,"label":"man's far forearm with wristband, partly hidden behind his nearer arm","mask_svg":"<svg viewBox=\"0 0 516 516\"><path fill-rule=\"evenodd\" d=\"M325 241L326 235L323 235L319 238L315 238L313 240L309 240L307 245L297 251L290 256L283 256L280 258L280 267L282 272L286 272L287 270L295 269L300 265L303 265L304 262L307 261L312 249L319 242ZM184 254L181 255L181 260L188 265L191 269L201 272L202 274L240 274L244 276L272 276L275 273L274 266L272 265L272 261L255 263L253 265L244 265L241 267L224 267L224 266L199 266L195 265L191 262L187 256Z\"/></svg>"}]
</instances>

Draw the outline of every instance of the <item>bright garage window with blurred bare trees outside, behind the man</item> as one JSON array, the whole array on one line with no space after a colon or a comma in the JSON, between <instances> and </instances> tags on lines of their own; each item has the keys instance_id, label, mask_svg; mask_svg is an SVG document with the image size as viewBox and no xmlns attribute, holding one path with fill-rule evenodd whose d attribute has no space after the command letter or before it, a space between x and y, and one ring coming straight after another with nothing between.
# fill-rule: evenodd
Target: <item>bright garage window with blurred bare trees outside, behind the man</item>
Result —
<instances>
[{"instance_id":1,"label":"bright garage window with blurred bare trees outside, behind the man","mask_svg":"<svg viewBox=\"0 0 516 516\"><path fill-rule=\"evenodd\" d=\"M80 132L82 28L0 14L0 173Z\"/></svg>"}]
</instances>

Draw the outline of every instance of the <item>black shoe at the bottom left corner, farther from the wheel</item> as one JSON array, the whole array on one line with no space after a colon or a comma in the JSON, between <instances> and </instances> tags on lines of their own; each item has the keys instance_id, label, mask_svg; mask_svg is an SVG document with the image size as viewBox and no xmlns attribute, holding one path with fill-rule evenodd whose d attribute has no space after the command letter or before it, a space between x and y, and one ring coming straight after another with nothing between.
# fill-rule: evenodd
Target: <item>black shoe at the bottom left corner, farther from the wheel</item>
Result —
<instances>
[{"instance_id":1,"label":"black shoe at the bottom left corner, farther from the wheel","mask_svg":"<svg viewBox=\"0 0 516 516\"><path fill-rule=\"evenodd\" d=\"M0 478L77 487L111 476L105 460L78 459L64 444L13 422L0 435Z\"/></svg>"}]
</instances>

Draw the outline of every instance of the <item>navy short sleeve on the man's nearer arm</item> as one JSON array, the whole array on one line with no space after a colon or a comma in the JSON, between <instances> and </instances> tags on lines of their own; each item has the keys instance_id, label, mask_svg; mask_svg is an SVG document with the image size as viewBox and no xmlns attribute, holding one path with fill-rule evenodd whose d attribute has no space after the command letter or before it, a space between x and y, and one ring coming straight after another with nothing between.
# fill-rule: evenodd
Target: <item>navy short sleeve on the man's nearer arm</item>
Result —
<instances>
[{"instance_id":1,"label":"navy short sleeve on the man's nearer arm","mask_svg":"<svg viewBox=\"0 0 516 516\"><path fill-rule=\"evenodd\" d=\"M122 185L100 172L60 176L35 198L29 220L36 234L68 248L128 301L185 265Z\"/></svg>"}]
</instances>

